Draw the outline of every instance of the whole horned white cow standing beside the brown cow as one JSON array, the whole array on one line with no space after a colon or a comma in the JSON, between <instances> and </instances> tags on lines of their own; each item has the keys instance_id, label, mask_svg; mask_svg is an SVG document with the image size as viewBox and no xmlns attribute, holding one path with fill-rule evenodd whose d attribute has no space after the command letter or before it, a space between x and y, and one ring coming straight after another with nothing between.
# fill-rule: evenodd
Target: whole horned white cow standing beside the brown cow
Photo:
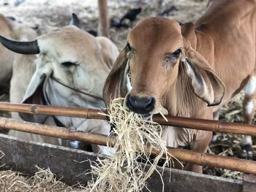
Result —
<instances>
[{"instance_id":1,"label":"whole horned white cow standing beside the brown cow","mask_svg":"<svg viewBox=\"0 0 256 192\"><path fill-rule=\"evenodd\" d=\"M26 61L28 61L27 58L33 60L34 56L31 54L37 55L34 60L36 69L29 85L27 85L22 103L91 109L105 108L102 100L102 88L113 62L116 60L118 49L109 39L93 37L86 31L81 30L75 26L76 22L76 16L72 15L72 25L37 37L36 40L31 42L15 42L0 37L0 42L5 47L15 53L25 54ZM12 82L16 83L12 83L12 85L15 85L16 88L21 85L18 81L23 82L23 78L26 78L24 77L26 71L32 72L34 70L32 69L34 67L33 62L29 66L31 66L31 69L26 69L25 66L22 67L25 69L23 74L14 73ZM17 70L21 71L22 69L17 68ZM20 74L23 77L16 76L17 79L15 74ZM27 77L29 77L29 74ZM27 82L25 80L25 86L18 93L15 92L18 89L12 88L15 93L11 92L11 95L15 94L17 98L17 95L24 91ZM110 132L110 126L105 120L28 114L20 114L20 117L37 123L52 124L54 121L54 123L72 130L90 133L108 135ZM32 134L26 134L26 136L23 134L23 137L27 139L29 137L29 139L37 141L42 138ZM41 141L45 142L44 139ZM53 144L56 144L56 139ZM102 148L102 153L109 154L108 147ZM100 150L97 145L92 145L92 149L94 152Z\"/></svg>"}]
</instances>

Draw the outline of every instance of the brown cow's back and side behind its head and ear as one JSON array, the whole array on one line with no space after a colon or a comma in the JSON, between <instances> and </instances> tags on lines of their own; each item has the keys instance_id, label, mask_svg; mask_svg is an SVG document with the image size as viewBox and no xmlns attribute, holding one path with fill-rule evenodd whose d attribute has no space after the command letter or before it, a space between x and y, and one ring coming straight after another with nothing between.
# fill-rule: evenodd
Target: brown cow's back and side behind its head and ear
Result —
<instances>
[{"instance_id":1,"label":"brown cow's back and side behind its head and ear","mask_svg":"<svg viewBox=\"0 0 256 192\"><path fill-rule=\"evenodd\" d=\"M211 58L211 66L226 85L225 103L255 74L256 1L212 1L194 24L197 51ZM211 43L203 43L205 39Z\"/></svg>"}]
</instances>

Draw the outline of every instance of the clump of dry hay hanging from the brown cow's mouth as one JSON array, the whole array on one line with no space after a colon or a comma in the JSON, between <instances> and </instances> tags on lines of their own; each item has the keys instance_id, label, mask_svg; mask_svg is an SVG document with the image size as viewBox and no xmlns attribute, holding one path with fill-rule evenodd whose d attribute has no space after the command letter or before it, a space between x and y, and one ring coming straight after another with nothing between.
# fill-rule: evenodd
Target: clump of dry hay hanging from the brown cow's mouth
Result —
<instances>
[{"instance_id":1,"label":"clump of dry hay hanging from the brown cow's mouth","mask_svg":"<svg viewBox=\"0 0 256 192\"><path fill-rule=\"evenodd\" d=\"M123 100L113 100L108 114L110 123L115 126L110 136L116 137L113 143L116 153L104 160L97 159L95 165L91 165L91 174L96 180L88 184L88 191L142 191L148 177L154 171L159 173L160 159L164 160L163 167L170 166L170 153L161 139L162 127L151 118L145 120L125 110L121 105ZM159 154L154 154L154 160L150 160L154 149L158 149ZM140 163L141 159L145 159L148 168Z\"/></svg>"}]
</instances>

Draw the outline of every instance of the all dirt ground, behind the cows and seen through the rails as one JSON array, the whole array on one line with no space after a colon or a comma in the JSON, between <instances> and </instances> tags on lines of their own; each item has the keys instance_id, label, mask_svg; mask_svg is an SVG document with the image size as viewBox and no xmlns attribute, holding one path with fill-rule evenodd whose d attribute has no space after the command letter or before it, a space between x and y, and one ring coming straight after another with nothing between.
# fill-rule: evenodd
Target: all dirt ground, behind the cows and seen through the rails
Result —
<instances>
[{"instance_id":1,"label":"all dirt ground, behind the cows and seen through the rails","mask_svg":"<svg viewBox=\"0 0 256 192\"><path fill-rule=\"evenodd\" d=\"M167 18L172 18L181 23L196 20L206 9L207 0L165 0L162 7L157 8L154 0L144 0L143 10L138 15L137 23L140 19L148 16L156 16L161 9L175 6L176 10L170 12ZM108 1L109 17L120 19L129 8L138 7L136 0L111 0ZM47 1L47 0L25 0L15 6L15 1L0 0L0 12L6 16L15 18L18 22L32 28L36 28L39 34L45 34L56 28L69 25L69 18L72 12L78 15L82 21L83 29L93 29L97 31L98 10L96 0L67 0L67 1ZM135 25L134 23L134 25ZM126 43L126 37L131 28L110 28L110 39L116 43L119 50ZM4 92L4 91L2 91ZM230 122L243 122L241 115L241 101L243 95L240 94L233 103L223 107L221 119ZM8 101L8 93L1 93L0 101ZM8 113L0 113L1 116L9 116ZM230 134L217 134L217 142L211 143L208 153L237 156L241 148L238 143L241 136ZM256 148L253 146L254 149ZM228 172L222 169L208 169L205 173L222 177L240 178L239 172Z\"/></svg>"}]
</instances>

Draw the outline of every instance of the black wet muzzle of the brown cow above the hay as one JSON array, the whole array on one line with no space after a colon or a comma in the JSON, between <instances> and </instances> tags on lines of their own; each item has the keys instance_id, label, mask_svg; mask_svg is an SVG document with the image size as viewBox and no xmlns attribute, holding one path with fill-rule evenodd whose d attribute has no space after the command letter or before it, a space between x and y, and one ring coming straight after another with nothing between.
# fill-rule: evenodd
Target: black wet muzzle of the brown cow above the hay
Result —
<instances>
[{"instance_id":1,"label":"black wet muzzle of the brown cow above the hay","mask_svg":"<svg viewBox=\"0 0 256 192\"><path fill-rule=\"evenodd\" d=\"M139 114L149 114L154 110L156 99L154 97L127 96L127 107L129 110Z\"/></svg>"}]
</instances>

